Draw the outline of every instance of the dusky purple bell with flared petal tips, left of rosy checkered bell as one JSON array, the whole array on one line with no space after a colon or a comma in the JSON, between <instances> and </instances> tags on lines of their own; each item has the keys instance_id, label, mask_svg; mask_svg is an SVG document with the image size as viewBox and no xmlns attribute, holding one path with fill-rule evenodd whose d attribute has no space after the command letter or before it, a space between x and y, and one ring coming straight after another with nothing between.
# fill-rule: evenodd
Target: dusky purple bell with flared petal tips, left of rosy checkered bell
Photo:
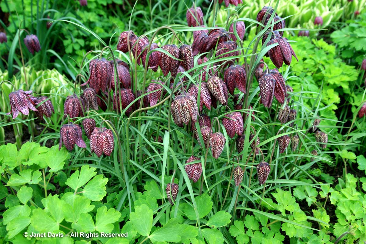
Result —
<instances>
[{"instance_id":1,"label":"dusky purple bell with flared petal tips, left of rosy checkered bell","mask_svg":"<svg viewBox=\"0 0 366 244\"><path fill-rule=\"evenodd\" d=\"M67 150L72 151L74 149L74 145L78 145L79 147L86 147L85 142L82 138L82 130L80 125L77 124L64 124L60 129L60 144L59 150L61 150L62 143L64 143Z\"/></svg>"}]
</instances>

